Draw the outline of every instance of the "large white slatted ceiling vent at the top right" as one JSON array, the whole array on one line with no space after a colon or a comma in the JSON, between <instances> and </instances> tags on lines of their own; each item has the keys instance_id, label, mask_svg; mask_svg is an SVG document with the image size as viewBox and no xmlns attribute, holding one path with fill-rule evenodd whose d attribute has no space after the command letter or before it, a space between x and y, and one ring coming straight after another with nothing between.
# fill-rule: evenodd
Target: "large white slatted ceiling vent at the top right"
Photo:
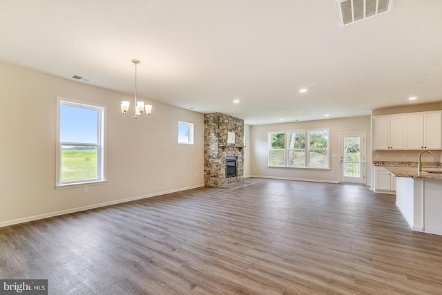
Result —
<instances>
[{"instance_id":1,"label":"large white slatted ceiling vent at the top right","mask_svg":"<svg viewBox=\"0 0 442 295\"><path fill-rule=\"evenodd\" d=\"M393 9L394 0L338 0L338 17L340 26L361 21L367 17Z\"/></svg>"}]
</instances>

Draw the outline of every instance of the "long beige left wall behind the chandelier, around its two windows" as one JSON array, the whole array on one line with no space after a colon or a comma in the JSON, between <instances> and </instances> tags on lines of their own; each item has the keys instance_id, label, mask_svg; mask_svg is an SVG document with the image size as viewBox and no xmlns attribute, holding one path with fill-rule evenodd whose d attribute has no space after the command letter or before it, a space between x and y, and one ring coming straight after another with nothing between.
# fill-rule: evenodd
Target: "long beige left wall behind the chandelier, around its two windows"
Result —
<instances>
[{"instance_id":1,"label":"long beige left wall behind the chandelier, around its two windows","mask_svg":"<svg viewBox=\"0 0 442 295\"><path fill-rule=\"evenodd\" d=\"M108 181L88 193L55 189L57 96L107 106ZM203 114L151 102L148 120L125 119L131 95L2 63L0 97L0 226L204 184ZM177 144L178 120L195 124L195 144Z\"/></svg>"}]
</instances>

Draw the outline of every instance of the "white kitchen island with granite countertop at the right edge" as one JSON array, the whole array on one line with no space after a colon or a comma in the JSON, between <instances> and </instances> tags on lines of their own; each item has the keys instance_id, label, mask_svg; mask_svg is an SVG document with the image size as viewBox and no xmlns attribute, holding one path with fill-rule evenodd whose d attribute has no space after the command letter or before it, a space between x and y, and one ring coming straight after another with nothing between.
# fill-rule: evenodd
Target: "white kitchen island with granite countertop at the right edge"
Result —
<instances>
[{"instance_id":1,"label":"white kitchen island with granite countertop at the right edge","mask_svg":"<svg viewBox=\"0 0 442 295\"><path fill-rule=\"evenodd\" d=\"M396 176L396 206L411 229L442 235L442 169L384 168Z\"/></svg>"}]
</instances>

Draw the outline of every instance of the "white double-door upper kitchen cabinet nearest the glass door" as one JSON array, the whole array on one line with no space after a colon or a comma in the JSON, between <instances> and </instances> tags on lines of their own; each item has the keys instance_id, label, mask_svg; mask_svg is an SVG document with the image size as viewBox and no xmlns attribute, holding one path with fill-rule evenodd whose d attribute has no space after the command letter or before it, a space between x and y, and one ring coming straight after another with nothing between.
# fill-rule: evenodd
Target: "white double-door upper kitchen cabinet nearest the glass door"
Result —
<instances>
[{"instance_id":1,"label":"white double-door upper kitchen cabinet nearest the glass door","mask_svg":"<svg viewBox=\"0 0 442 295\"><path fill-rule=\"evenodd\" d=\"M374 119L374 149L402 150L406 149L405 116L376 117Z\"/></svg>"}]
</instances>

